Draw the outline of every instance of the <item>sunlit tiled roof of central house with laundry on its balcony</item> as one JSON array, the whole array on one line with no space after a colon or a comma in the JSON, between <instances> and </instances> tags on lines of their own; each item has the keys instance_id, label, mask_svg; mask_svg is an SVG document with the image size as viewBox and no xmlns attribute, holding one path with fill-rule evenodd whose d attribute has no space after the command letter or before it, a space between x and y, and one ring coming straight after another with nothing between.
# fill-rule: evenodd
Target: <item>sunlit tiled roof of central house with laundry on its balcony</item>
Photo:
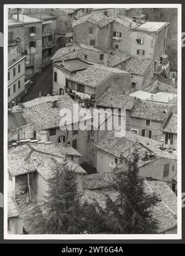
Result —
<instances>
[{"instance_id":1,"label":"sunlit tiled roof of central house with laundry on its balcony","mask_svg":"<svg viewBox=\"0 0 185 256\"><path fill-rule=\"evenodd\" d=\"M112 72L109 72L106 68L102 69L95 66L89 66L86 70L76 72L76 74L69 80L75 81L76 83L82 83L83 85L96 87L111 74Z\"/></svg>"}]
</instances>

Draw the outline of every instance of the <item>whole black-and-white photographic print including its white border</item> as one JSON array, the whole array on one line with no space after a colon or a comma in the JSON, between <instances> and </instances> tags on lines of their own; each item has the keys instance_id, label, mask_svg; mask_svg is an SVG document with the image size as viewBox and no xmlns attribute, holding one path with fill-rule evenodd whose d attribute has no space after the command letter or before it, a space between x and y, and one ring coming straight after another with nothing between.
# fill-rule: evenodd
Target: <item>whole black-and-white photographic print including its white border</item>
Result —
<instances>
[{"instance_id":1,"label":"whole black-and-white photographic print including its white border","mask_svg":"<svg viewBox=\"0 0 185 256\"><path fill-rule=\"evenodd\" d=\"M6 4L4 123L6 239L180 239L181 6Z\"/></svg>"}]
</instances>

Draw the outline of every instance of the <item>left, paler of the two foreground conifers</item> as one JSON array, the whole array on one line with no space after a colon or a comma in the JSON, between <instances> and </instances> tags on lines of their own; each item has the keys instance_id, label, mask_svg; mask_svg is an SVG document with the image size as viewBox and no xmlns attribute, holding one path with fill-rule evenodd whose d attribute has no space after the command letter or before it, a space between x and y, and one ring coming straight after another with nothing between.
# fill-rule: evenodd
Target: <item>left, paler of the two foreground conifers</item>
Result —
<instances>
[{"instance_id":1,"label":"left, paler of the two foreground conifers","mask_svg":"<svg viewBox=\"0 0 185 256\"><path fill-rule=\"evenodd\" d=\"M83 207L77 197L74 171L68 170L67 159L49 180L45 207L45 234L79 234L84 231Z\"/></svg>"}]
</instances>

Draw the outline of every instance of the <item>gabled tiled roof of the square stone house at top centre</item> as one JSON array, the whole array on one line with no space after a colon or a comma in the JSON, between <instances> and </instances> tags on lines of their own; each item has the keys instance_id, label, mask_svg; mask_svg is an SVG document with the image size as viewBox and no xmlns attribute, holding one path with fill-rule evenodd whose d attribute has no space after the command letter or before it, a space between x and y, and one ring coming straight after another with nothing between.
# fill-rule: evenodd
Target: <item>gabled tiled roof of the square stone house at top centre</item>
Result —
<instances>
[{"instance_id":1,"label":"gabled tiled roof of the square stone house at top centre","mask_svg":"<svg viewBox=\"0 0 185 256\"><path fill-rule=\"evenodd\" d=\"M103 28L107 26L109 23L111 23L112 19L105 16L101 12L94 12L92 14L84 15L80 17L78 20L74 20L72 23L72 27L80 25L81 23L84 23L84 22L91 22L99 26L100 28Z\"/></svg>"}]
</instances>

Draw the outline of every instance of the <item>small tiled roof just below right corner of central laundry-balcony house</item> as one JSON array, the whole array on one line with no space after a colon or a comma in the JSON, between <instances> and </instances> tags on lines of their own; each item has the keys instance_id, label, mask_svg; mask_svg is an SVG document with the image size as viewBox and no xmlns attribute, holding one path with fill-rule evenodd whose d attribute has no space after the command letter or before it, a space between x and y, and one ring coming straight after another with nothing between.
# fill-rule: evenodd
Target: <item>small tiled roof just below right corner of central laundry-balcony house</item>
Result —
<instances>
[{"instance_id":1,"label":"small tiled roof just below right corner of central laundry-balcony house","mask_svg":"<svg viewBox=\"0 0 185 256\"><path fill-rule=\"evenodd\" d=\"M134 97L125 94L107 93L97 102L102 107L131 110L136 103Z\"/></svg>"}]
</instances>

